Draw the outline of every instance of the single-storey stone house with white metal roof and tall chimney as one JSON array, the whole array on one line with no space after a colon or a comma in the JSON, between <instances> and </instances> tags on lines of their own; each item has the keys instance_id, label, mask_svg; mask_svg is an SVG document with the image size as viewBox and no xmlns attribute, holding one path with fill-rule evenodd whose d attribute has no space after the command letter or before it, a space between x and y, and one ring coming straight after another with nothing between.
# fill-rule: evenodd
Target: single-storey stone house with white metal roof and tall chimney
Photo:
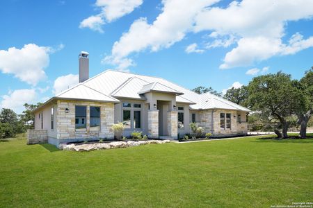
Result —
<instances>
[{"instance_id":1,"label":"single-storey stone house with white metal roof and tall chimney","mask_svg":"<svg viewBox=\"0 0 313 208\"><path fill-rule=\"evenodd\" d=\"M246 107L163 78L113 70L89 78L88 56L79 54L79 84L34 110L35 130L29 137L45 137L56 146L112 139L111 126L118 122L125 124L126 137L138 130L150 138L177 139L191 132L191 122L214 137L247 134Z\"/></svg>"}]
</instances>

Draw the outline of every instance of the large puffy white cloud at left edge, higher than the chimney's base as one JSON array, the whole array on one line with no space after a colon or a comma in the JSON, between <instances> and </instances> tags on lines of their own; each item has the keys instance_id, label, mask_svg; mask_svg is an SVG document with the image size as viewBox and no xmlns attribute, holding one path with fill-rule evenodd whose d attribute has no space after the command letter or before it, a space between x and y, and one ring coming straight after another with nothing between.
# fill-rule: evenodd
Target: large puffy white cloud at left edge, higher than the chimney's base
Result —
<instances>
[{"instance_id":1,"label":"large puffy white cloud at left edge, higher than the chimney's base","mask_svg":"<svg viewBox=\"0 0 313 208\"><path fill-rule=\"evenodd\" d=\"M12 73L31 85L37 85L40 80L45 80L44 69L49 65L49 53L55 49L36 44L26 44L22 49L15 47L8 51L0 50L0 71Z\"/></svg>"}]
</instances>

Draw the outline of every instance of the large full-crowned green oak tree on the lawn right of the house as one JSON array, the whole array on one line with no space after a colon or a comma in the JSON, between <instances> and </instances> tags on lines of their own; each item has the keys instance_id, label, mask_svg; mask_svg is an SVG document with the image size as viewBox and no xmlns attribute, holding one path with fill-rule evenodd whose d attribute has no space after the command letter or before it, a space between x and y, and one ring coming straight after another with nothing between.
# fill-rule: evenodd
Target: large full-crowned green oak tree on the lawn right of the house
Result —
<instances>
[{"instance_id":1,"label":"large full-crowned green oak tree on the lawn right of the house","mask_svg":"<svg viewBox=\"0 0 313 208\"><path fill-rule=\"evenodd\" d=\"M277 119L282 125L282 133L274 129L279 138L287 138L290 116L296 108L299 91L293 86L291 76L278 72L257 76L248 85L248 105L252 110L262 112L269 121Z\"/></svg>"}]
</instances>

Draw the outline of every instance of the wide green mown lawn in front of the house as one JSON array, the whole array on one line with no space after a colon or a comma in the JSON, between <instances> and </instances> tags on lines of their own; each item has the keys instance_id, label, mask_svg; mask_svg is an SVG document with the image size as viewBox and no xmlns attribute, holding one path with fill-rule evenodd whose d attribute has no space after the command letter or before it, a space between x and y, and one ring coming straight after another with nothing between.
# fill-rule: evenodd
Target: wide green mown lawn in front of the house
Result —
<instances>
[{"instance_id":1,"label":"wide green mown lawn in front of the house","mask_svg":"<svg viewBox=\"0 0 313 208\"><path fill-rule=\"evenodd\" d=\"M268 136L266 136L268 137ZM89 153L0 142L0 207L270 207L313 201L313 139Z\"/></svg>"}]
</instances>

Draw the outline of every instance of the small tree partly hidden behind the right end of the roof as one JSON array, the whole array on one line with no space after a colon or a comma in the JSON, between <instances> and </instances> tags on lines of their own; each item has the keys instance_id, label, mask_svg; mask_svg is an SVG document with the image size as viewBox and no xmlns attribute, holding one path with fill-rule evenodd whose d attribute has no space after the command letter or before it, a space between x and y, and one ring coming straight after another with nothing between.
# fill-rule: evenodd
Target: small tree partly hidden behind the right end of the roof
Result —
<instances>
[{"instance_id":1,"label":"small tree partly hidden behind the right end of the roof","mask_svg":"<svg viewBox=\"0 0 313 208\"><path fill-rule=\"evenodd\" d=\"M230 88L227 89L226 94L223 96L228 101L232 101L238 105L245 105L246 100L248 98L248 90L246 86L242 86L240 88Z\"/></svg>"}]
</instances>

